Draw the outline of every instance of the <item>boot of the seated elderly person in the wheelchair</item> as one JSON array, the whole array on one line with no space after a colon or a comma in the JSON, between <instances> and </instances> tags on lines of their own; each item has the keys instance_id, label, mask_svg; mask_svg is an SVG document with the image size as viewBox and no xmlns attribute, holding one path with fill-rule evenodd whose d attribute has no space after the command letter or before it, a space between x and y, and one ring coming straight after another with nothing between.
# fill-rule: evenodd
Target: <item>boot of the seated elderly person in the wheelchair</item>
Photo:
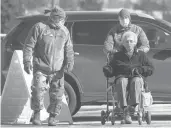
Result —
<instances>
[{"instance_id":1,"label":"boot of the seated elderly person in the wheelchair","mask_svg":"<svg viewBox=\"0 0 171 128\"><path fill-rule=\"evenodd\" d=\"M127 108L124 110L123 114L124 115L123 119L121 120L121 124L132 124L132 119Z\"/></svg>"}]
</instances>

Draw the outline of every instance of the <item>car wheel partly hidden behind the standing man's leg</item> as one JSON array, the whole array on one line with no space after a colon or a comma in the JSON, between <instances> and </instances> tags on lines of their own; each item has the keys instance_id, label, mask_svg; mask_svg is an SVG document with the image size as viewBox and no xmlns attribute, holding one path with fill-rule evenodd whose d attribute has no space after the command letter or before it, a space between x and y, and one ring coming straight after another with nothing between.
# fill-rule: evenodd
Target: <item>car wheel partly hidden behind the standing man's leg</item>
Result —
<instances>
[{"instance_id":1,"label":"car wheel partly hidden behind the standing man's leg","mask_svg":"<svg viewBox=\"0 0 171 128\"><path fill-rule=\"evenodd\" d=\"M71 115L74 114L74 111L77 108L77 97L76 97L76 93L74 91L74 89L72 88L72 86L65 81L65 97L66 97L66 101L68 103Z\"/></svg>"}]
</instances>

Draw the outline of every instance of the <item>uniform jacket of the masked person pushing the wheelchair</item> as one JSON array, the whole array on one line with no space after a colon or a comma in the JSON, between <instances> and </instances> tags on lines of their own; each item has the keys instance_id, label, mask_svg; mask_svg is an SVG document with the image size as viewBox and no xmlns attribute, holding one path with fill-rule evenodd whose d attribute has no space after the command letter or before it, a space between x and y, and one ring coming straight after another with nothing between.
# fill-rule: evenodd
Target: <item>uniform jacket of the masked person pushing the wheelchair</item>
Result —
<instances>
[{"instance_id":1,"label":"uniform jacket of the masked person pushing the wheelchair","mask_svg":"<svg viewBox=\"0 0 171 128\"><path fill-rule=\"evenodd\" d=\"M120 24L113 27L107 35L107 38L104 42L104 52L110 53L112 51L120 51L120 46L117 41L115 41L114 37L117 34L120 39L122 35L126 31L132 31L138 36L137 48L142 49L145 53L147 53L150 49L148 38L143 31L143 29L135 24L130 24L127 28L122 27Z\"/></svg>"}]
</instances>

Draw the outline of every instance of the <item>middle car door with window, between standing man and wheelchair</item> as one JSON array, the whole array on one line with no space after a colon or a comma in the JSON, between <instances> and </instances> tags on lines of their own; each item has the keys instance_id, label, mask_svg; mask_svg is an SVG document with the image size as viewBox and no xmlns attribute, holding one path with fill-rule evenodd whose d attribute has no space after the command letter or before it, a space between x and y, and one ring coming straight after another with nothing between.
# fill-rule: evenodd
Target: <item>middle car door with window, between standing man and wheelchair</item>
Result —
<instances>
[{"instance_id":1,"label":"middle car door with window, between standing man and wheelchair","mask_svg":"<svg viewBox=\"0 0 171 128\"><path fill-rule=\"evenodd\" d=\"M73 25L75 57L74 73L83 85L84 102L105 99L106 79L102 67L106 64L103 44L114 21L82 21Z\"/></svg>"}]
</instances>

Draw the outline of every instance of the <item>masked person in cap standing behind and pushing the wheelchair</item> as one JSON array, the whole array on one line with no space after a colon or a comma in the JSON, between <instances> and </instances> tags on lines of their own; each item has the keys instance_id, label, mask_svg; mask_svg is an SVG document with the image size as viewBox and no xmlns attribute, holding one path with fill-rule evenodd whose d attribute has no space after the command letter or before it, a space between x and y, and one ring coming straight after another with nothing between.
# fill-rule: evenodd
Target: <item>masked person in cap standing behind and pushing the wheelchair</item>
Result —
<instances>
[{"instance_id":1,"label":"masked person in cap standing behind and pushing the wheelchair","mask_svg":"<svg viewBox=\"0 0 171 128\"><path fill-rule=\"evenodd\" d=\"M138 37L137 50L147 53L150 49L149 41L143 29L131 23L131 15L128 10L122 9L118 14L119 24L113 27L104 42L104 52L113 54L122 49L121 38L126 31L134 32Z\"/></svg>"}]
</instances>

